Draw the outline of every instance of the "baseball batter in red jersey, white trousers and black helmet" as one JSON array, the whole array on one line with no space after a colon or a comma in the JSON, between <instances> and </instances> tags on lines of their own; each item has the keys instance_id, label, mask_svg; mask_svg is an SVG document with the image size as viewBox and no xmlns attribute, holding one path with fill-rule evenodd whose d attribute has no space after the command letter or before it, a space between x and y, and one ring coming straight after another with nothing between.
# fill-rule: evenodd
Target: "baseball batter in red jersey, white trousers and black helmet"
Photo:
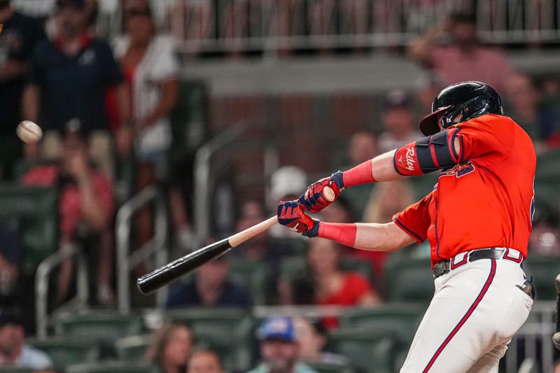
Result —
<instances>
[{"instance_id":1,"label":"baseball batter in red jersey, white trousers and black helmet","mask_svg":"<svg viewBox=\"0 0 560 373\"><path fill-rule=\"evenodd\" d=\"M400 372L498 372L507 344L531 311L521 262L533 214L535 150L503 115L489 85L450 85L420 122L426 137L313 183L278 206L279 223L307 237L363 250L430 243L435 294ZM392 223L323 223L306 215L345 188L440 170L435 188Z\"/></svg>"}]
</instances>

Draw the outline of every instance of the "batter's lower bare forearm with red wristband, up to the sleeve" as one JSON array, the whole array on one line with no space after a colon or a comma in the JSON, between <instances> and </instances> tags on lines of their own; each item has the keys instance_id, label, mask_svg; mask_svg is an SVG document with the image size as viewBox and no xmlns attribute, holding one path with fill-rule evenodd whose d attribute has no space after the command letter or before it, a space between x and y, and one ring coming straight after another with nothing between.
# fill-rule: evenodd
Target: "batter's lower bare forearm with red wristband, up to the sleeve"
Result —
<instances>
[{"instance_id":1,"label":"batter's lower bare forearm with red wristband, up to the sleeve","mask_svg":"<svg viewBox=\"0 0 560 373\"><path fill-rule=\"evenodd\" d=\"M320 222L318 235L345 246L368 251L395 251L414 241L395 223L324 223Z\"/></svg>"}]
</instances>

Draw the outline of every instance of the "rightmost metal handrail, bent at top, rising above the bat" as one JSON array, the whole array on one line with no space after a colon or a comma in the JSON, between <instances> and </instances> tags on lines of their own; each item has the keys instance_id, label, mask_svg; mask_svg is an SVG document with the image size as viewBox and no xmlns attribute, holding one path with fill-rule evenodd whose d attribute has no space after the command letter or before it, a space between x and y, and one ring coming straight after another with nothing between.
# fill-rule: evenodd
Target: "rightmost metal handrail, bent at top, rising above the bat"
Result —
<instances>
[{"instance_id":1,"label":"rightmost metal handrail, bent at top, rising above the bat","mask_svg":"<svg viewBox=\"0 0 560 373\"><path fill-rule=\"evenodd\" d=\"M201 244L210 234L210 167L211 157L224 146L228 145L248 129L246 122L237 122L230 129L202 145L195 154L195 227L197 244Z\"/></svg>"}]
</instances>

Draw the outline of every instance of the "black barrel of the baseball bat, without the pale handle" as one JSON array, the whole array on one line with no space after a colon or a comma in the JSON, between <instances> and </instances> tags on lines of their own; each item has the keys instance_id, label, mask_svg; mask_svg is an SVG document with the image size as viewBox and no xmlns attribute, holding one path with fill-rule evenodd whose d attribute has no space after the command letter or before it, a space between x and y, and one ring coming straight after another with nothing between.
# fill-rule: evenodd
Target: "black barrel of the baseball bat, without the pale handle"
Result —
<instances>
[{"instance_id":1,"label":"black barrel of the baseball bat, without the pale handle","mask_svg":"<svg viewBox=\"0 0 560 373\"><path fill-rule=\"evenodd\" d=\"M167 285L168 283L179 279L179 277L188 274L189 272L197 269L204 263L218 258L228 251L232 246L228 239L223 239L214 244L204 246L203 248L193 251L182 258L170 262L164 267L155 269L155 271L141 276L137 280L138 290L143 294L150 294L154 290Z\"/></svg>"}]
</instances>

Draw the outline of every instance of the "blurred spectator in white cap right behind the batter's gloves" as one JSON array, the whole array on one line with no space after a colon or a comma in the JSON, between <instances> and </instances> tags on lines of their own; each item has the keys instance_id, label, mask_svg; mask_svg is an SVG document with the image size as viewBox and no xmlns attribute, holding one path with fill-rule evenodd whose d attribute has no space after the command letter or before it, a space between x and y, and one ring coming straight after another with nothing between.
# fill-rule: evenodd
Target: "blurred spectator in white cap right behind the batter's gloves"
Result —
<instances>
[{"instance_id":1,"label":"blurred spectator in white cap right behind the batter's gloves","mask_svg":"<svg viewBox=\"0 0 560 373\"><path fill-rule=\"evenodd\" d=\"M269 194L267 204L270 209L274 209L276 213L276 206L279 201L291 201L292 199L299 198L302 192L305 191L309 185L307 174L303 169L297 166L283 166L276 169L270 176ZM276 238L293 238L296 236L289 230L283 229L279 224L269 229L272 237ZM302 239L297 235L298 239Z\"/></svg>"}]
</instances>

